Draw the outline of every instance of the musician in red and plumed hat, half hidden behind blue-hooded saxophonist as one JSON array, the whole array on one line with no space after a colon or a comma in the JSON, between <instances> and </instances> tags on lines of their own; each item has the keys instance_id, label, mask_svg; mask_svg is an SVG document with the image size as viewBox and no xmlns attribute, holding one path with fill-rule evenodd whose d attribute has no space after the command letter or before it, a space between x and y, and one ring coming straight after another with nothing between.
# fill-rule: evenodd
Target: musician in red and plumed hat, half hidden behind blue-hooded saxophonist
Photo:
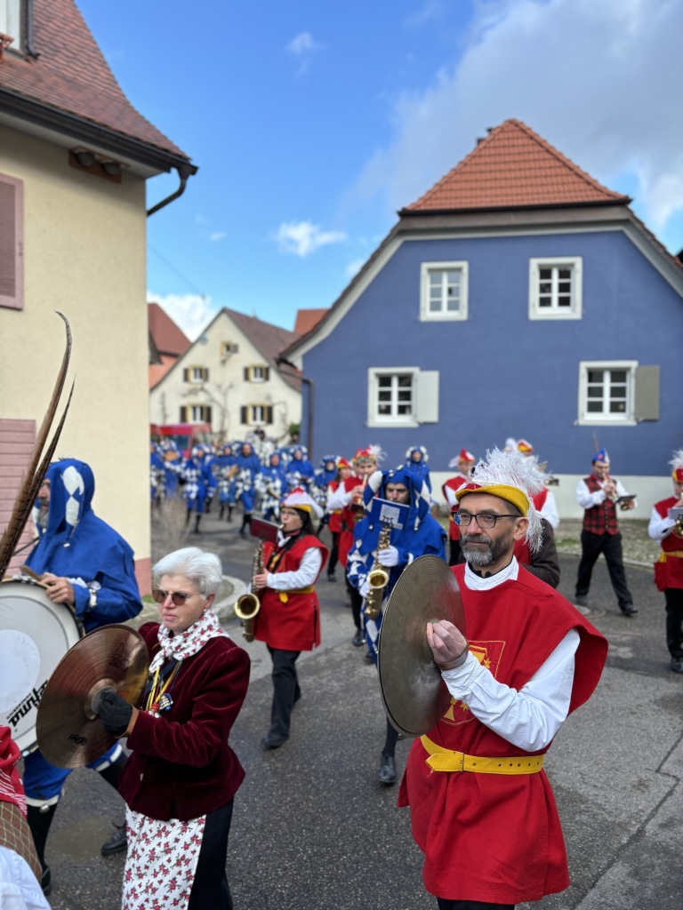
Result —
<instances>
[{"instance_id":1,"label":"musician in red and plumed hat, half hidden behind blue-hooded saxophonist","mask_svg":"<svg viewBox=\"0 0 683 910\"><path fill-rule=\"evenodd\" d=\"M377 470L378 461L383 458L384 453L379 446L367 446L365 449L357 450L352 458L353 474L340 482L327 501L327 508L330 511L342 510L342 530L339 534L339 561L342 563L344 571L347 568L349 551L353 546L356 524L365 514L365 503L363 501L365 485L370 475ZM356 628L352 644L360 648L365 641L361 627L362 597L349 581L348 575L346 575L346 589L349 591L351 598L353 625Z\"/></svg>"}]
</instances>

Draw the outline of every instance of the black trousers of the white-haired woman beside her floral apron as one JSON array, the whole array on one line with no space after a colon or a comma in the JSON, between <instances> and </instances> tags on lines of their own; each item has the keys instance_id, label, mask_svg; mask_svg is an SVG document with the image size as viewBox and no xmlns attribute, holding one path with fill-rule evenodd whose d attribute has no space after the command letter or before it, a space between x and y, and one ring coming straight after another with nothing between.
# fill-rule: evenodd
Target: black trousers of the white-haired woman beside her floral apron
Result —
<instances>
[{"instance_id":1,"label":"black trousers of the white-haired woman beside her floral apron","mask_svg":"<svg viewBox=\"0 0 683 910\"><path fill-rule=\"evenodd\" d=\"M231 821L232 800L207 813L188 910L232 910L225 871Z\"/></svg>"}]
</instances>

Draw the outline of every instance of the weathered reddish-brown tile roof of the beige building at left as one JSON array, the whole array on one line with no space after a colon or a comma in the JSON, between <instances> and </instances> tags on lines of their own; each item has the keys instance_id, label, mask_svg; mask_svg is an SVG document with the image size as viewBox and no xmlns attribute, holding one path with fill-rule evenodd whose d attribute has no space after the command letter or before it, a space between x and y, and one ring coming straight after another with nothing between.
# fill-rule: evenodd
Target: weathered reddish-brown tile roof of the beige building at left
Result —
<instances>
[{"instance_id":1,"label":"weathered reddish-brown tile roof of the beige building at left","mask_svg":"<svg viewBox=\"0 0 683 910\"><path fill-rule=\"evenodd\" d=\"M5 88L187 157L130 104L74 0L35 0L33 10L33 45L39 56L5 52L0 62L0 90Z\"/></svg>"}]
</instances>

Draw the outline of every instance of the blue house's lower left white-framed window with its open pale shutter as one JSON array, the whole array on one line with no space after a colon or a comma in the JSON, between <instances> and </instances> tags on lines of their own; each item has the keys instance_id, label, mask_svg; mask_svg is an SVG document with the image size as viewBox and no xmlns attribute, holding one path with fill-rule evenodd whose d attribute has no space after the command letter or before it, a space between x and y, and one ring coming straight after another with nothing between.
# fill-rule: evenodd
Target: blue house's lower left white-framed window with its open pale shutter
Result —
<instances>
[{"instance_id":1,"label":"blue house's lower left white-framed window with its open pale shutter","mask_svg":"<svg viewBox=\"0 0 683 910\"><path fill-rule=\"evenodd\" d=\"M369 427L417 427L439 420L439 374L418 367L368 370Z\"/></svg>"}]
</instances>

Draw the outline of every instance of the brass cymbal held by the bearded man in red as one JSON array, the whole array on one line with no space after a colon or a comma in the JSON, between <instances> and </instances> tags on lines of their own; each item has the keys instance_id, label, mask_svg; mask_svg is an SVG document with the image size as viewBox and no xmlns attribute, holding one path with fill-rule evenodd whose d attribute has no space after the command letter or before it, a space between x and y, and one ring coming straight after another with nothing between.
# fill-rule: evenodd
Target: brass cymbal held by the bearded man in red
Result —
<instances>
[{"instance_id":1,"label":"brass cymbal held by the bearded man in red","mask_svg":"<svg viewBox=\"0 0 683 910\"><path fill-rule=\"evenodd\" d=\"M451 701L427 642L426 624L437 620L450 620L464 634L463 598L447 562L420 556L393 588L377 653L384 710L407 736L431 730Z\"/></svg>"}]
</instances>

